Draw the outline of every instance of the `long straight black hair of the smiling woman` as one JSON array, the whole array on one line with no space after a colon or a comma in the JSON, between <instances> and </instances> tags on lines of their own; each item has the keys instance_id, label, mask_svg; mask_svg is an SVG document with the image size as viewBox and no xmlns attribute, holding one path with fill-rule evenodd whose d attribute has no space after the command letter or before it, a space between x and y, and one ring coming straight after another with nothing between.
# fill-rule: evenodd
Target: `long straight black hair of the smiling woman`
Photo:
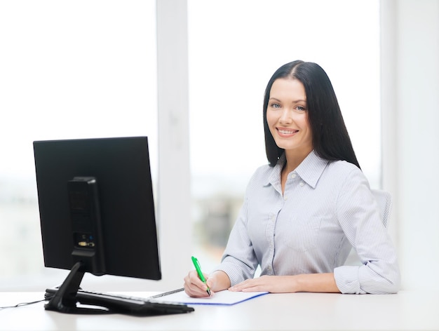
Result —
<instances>
[{"instance_id":1,"label":"long straight black hair of the smiling woman","mask_svg":"<svg viewBox=\"0 0 439 331\"><path fill-rule=\"evenodd\" d=\"M329 161L348 161L360 168L329 77L316 63L300 60L287 63L277 69L265 89L265 151L270 165L276 165L278 158L284 152L284 149L276 145L266 122L271 86L276 79L297 79L304 85L313 149L318 156Z\"/></svg>"}]
</instances>

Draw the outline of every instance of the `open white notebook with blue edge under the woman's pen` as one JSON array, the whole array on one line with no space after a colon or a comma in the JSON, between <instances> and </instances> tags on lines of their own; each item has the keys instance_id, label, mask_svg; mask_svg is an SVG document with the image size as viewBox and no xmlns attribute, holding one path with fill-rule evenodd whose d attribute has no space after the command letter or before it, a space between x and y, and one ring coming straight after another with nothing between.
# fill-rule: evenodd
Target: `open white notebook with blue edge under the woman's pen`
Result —
<instances>
[{"instance_id":1,"label":"open white notebook with blue edge under the woman's pen","mask_svg":"<svg viewBox=\"0 0 439 331\"><path fill-rule=\"evenodd\" d=\"M212 297L194 298L184 292L184 288L173 290L170 292L164 292L160 295L154 295L149 299L154 302L177 302L180 304L219 304L225 306L231 306L232 304L238 304L240 302L266 295L268 292L231 292L229 290L223 290L215 292Z\"/></svg>"}]
</instances>

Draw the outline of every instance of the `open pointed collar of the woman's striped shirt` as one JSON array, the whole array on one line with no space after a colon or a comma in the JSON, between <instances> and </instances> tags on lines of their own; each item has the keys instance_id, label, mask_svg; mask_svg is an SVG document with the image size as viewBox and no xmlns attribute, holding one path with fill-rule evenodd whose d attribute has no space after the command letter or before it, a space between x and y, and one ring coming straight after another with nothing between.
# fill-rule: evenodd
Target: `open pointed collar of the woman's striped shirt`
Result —
<instances>
[{"instance_id":1,"label":"open pointed collar of the woman's striped shirt","mask_svg":"<svg viewBox=\"0 0 439 331\"><path fill-rule=\"evenodd\" d=\"M279 158L278 163L273 167L271 170L271 174L268 177L268 180L266 182L266 185L271 184L274 187L278 187L281 185L281 171L283 168L283 165L285 164L286 158L285 153L282 154L282 156ZM299 175L300 178L306 184L309 184L313 189L316 188L317 182L320 178L320 176L323 173L323 170L325 170L327 163L330 161L325 160L324 158L320 158L320 156L317 155L316 151L311 151L311 153L304 158L304 161L299 164L299 166L296 168L295 173Z\"/></svg>"}]
</instances>

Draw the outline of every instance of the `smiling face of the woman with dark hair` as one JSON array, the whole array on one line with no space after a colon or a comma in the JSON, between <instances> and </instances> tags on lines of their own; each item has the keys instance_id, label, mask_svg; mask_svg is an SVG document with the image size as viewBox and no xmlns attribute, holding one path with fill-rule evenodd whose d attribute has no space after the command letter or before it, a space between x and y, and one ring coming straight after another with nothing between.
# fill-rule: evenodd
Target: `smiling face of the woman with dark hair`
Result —
<instances>
[{"instance_id":1,"label":"smiling face of the woman with dark hair","mask_svg":"<svg viewBox=\"0 0 439 331\"><path fill-rule=\"evenodd\" d=\"M271 86L266 121L278 147L306 156L313 149L306 93L297 79L276 79Z\"/></svg>"}]
</instances>

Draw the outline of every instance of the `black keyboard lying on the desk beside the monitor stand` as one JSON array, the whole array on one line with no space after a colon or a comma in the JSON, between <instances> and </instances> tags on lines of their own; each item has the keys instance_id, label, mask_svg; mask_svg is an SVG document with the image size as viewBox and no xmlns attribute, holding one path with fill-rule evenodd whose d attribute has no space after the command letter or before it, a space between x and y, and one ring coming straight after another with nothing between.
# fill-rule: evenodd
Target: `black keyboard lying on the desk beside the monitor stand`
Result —
<instances>
[{"instance_id":1,"label":"black keyboard lying on the desk beside the monitor stand","mask_svg":"<svg viewBox=\"0 0 439 331\"><path fill-rule=\"evenodd\" d=\"M46 299L50 299L58 291L57 288L46 290ZM108 309L109 313L128 313L139 316L156 316L173 313L189 313L194 308L186 304L175 302L154 302L154 299L142 297L129 297L126 295L114 295L102 292L89 292L78 290L75 299L80 304L102 306Z\"/></svg>"}]
</instances>

